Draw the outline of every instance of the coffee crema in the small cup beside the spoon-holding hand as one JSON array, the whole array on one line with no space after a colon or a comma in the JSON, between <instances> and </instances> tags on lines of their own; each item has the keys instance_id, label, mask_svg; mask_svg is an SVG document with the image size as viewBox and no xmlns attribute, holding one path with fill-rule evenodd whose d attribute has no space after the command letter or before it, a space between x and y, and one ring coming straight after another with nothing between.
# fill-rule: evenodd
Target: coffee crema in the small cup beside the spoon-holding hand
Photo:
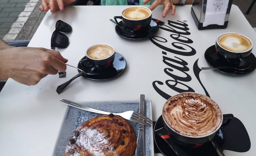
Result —
<instances>
[{"instance_id":1,"label":"coffee crema in the small cup beside the spoon-holding hand","mask_svg":"<svg viewBox=\"0 0 256 156\"><path fill-rule=\"evenodd\" d=\"M109 45L95 45L87 51L87 56L95 60L102 60L110 57L114 49Z\"/></svg>"}]
</instances>

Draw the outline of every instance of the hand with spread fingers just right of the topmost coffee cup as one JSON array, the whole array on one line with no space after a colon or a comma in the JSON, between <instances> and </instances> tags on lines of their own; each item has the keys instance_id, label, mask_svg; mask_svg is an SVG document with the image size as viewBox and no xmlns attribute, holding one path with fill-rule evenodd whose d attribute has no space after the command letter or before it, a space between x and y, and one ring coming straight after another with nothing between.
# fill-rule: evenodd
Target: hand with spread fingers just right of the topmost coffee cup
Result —
<instances>
[{"instance_id":1,"label":"hand with spread fingers just right of the topmost coffee cup","mask_svg":"<svg viewBox=\"0 0 256 156\"><path fill-rule=\"evenodd\" d=\"M146 4L150 0L143 0L143 3ZM174 3L175 1L175 3ZM163 10L162 16L165 18L169 10L171 10L171 15L175 14L176 6L174 4L178 3L177 0L155 0L149 7L150 10L154 10L156 6L163 4L165 6L165 9Z\"/></svg>"}]
</instances>

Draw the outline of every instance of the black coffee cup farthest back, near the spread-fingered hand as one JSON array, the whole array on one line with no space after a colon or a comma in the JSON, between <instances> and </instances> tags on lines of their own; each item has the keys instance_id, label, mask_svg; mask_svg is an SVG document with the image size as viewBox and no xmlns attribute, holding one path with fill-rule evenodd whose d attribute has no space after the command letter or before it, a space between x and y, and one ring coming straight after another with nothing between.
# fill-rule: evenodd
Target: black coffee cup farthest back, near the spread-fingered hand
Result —
<instances>
[{"instance_id":1,"label":"black coffee cup farthest back, near the spread-fingered hand","mask_svg":"<svg viewBox=\"0 0 256 156\"><path fill-rule=\"evenodd\" d=\"M124 25L117 22L117 18L121 19ZM126 27L130 30L140 30L150 25L152 11L144 6L131 6L121 12L121 16L115 16L115 22L120 27Z\"/></svg>"}]
</instances>

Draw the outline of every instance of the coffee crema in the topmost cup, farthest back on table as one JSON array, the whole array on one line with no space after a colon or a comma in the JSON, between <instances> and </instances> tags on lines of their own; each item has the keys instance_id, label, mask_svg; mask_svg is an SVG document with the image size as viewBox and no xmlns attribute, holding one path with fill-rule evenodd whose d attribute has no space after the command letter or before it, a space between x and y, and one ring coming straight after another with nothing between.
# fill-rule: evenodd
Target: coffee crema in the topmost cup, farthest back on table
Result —
<instances>
[{"instance_id":1,"label":"coffee crema in the topmost cup, farthest back on table","mask_svg":"<svg viewBox=\"0 0 256 156\"><path fill-rule=\"evenodd\" d=\"M144 7L130 7L122 15L131 20L142 20L150 16L150 11Z\"/></svg>"}]
</instances>

